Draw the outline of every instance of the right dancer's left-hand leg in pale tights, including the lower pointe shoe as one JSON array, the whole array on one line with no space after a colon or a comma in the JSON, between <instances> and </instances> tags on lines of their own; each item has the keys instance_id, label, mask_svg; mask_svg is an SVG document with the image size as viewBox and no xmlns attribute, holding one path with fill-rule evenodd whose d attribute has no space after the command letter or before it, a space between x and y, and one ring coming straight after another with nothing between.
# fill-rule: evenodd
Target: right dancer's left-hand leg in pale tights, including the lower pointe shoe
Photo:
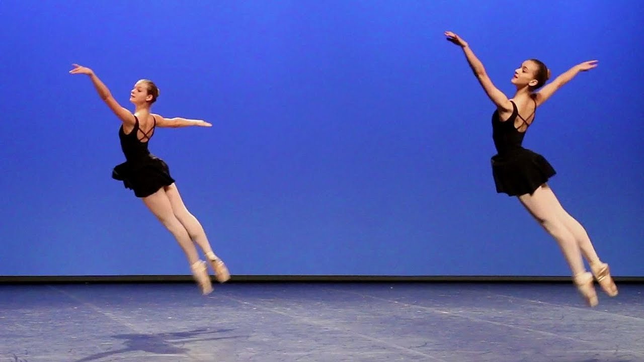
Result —
<instances>
[{"instance_id":1,"label":"right dancer's left-hand leg in pale tights, including the lower pointe shoe","mask_svg":"<svg viewBox=\"0 0 644 362\"><path fill-rule=\"evenodd\" d=\"M582 296L586 298L591 307L597 305L597 295L592 285L592 274L585 271L582 252L574 238L573 233L565 227L560 218L558 203L553 202L553 193L547 185L536 189L533 195L519 196L520 202L527 211L539 222L545 231L553 236L564 253L565 260L573 271L573 280ZM556 198L554 199L556 200Z\"/></svg>"}]
</instances>

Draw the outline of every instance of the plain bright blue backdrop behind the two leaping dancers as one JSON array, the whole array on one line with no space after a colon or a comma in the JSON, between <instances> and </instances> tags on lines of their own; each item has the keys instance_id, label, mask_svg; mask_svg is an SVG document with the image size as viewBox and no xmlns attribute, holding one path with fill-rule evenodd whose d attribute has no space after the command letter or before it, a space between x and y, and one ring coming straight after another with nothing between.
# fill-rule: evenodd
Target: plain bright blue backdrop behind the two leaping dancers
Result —
<instances>
[{"instance_id":1,"label":"plain bright blue backdrop behind the two leaping dancers","mask_svg":"<svg viewBox=\"0 0 644 362\"><path fill-rule=\"evenodd\" d=\"M0 275L188 274L178 245L110 178L118 119L71 64L158 129L151 151L232 274L569 275L495 192L497 86L598 59L537 112L524 145L618 276L644 276L641 1L1 1Z\"/></svg>"}]
</instances>

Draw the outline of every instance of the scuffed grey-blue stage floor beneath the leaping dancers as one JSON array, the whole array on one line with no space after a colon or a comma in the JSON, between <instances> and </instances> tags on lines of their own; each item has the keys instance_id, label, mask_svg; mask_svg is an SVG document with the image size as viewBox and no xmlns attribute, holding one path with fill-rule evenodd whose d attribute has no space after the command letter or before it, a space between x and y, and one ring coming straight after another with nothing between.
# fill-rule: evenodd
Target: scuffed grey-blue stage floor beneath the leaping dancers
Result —
<instances>
[{"instance_id":1,"label":"scuffed grey-blue stage floor beneath the leaping dancers","mask_svg":"<svg viewBox=\"0 0 644 362\"><path fill-rule=\"evenodd\" d=\"M619 286L0 285L0 362L641 362L644 285Z\"/></svg>"}]
</instances>

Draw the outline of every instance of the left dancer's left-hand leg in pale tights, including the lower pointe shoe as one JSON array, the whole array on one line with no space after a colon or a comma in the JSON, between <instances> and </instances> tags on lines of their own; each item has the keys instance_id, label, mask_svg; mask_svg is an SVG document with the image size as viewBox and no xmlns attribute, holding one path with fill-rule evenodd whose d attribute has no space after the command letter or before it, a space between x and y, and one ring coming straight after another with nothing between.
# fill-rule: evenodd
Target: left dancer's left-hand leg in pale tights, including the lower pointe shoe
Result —
<instances>
[{"instance_id":1,"label":"left dancer's left-hand leg in pale tights, including the lower pointe shoe","mask_svg":"<svg viewBox=\"0 0 644 362\"><path fill-rule=\"evenodd\" d=\"M202 292L204 294L208 294L213 291L210 278L205 272L204 262L199 260L199 254L197 253L196 247L194 247L188 232L173 213L172 205L166 195L166 191L164 189L159 189L156 193L144 197L142 200L144 204L146 204L147 208L150 209L156 218L158 218L161 224L163 224L166 229L175 236L179 246L185 252L185 256L188 259L188 263L190 263L193 276L199 283Z\"/></svg>"}]
</instances>

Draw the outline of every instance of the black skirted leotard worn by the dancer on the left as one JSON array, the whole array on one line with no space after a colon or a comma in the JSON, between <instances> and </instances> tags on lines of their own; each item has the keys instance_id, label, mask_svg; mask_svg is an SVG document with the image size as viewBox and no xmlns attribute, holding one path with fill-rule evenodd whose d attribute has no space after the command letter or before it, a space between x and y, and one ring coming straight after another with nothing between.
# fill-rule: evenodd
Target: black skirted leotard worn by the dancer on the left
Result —
<instances>
[{"instance_id":1,"label":"black skirted leotard worn by the dancer on the left","mask_svg":"<svg viewBox=\"0 0 644 362\"><path fill-rule=\"evenodd\" d=\"M140 140L138 138L138 119L135 116L134 129L127 135L123 131L123 126L118 130L121 149L126 157L126 162L118 164L112 170L112 178L123 182L123 186L134 191L137 197L150 196L161 187L170 186L175 180L170 176L169 167L161 158L155 157L147 149L147 143L153 134L155 124L150 129L149 134L143 133ZM145 140L145 142L143 142Z\"/></svg>"}]
</instances>

